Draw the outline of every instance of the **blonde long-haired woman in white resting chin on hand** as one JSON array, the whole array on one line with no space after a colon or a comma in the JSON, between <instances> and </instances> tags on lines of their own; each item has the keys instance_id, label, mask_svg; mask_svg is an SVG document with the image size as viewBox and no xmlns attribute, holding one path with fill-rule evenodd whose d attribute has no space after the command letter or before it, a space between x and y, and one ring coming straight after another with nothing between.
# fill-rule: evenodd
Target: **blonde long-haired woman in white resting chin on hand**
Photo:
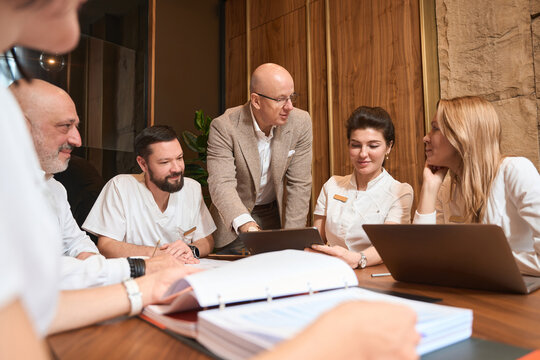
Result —
<instances>
[{"instance_id":1,"label":"blonde long-haired woman in white resting chin on hand","mask_svg":"<svg viewBox=\"0 0 540 360\"><path fill-rule=\"evenodd\" d=\"M431 127L414 223L499 225L521 272L540 276L540 175L526 158L501 154L493 106L441 100Z\"/></svg>"}]
</instances>

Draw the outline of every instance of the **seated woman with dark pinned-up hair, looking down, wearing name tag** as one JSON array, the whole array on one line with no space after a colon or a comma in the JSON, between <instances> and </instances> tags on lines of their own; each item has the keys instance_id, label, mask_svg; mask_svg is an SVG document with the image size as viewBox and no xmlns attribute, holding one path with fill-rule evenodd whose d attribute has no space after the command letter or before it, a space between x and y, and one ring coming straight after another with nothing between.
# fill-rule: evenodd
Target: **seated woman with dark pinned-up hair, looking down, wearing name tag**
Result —
<instances>
[{"instance_id":1,"label":"seated woman with dark pinned-up hair, looking down, wearing name tag","mask_svg":"<svg viewBox=\"0 0 540 360\"><path fill-rule=\"evenodd\" d=\"M324 184L314 225L329 246L313 249L341 258L353 269L382 262L363 224L409 223L413 189L384 169L395 143L394 124L380 107L360 106L347 120L352 174L332 176Z\"/></svg>"}]
</instances>

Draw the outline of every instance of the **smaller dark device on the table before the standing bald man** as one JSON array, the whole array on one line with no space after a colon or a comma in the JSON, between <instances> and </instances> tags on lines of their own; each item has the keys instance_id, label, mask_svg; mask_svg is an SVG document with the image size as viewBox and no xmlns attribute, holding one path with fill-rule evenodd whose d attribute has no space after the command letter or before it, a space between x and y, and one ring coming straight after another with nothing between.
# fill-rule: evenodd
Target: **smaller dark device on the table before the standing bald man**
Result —
<instances>
[{"instance_id":1,"label":"smaller dark device on the table before the standing bald man","mask_svg":"<svg viewBox=\"0 0 540 360\"><path fill-rule=\"evenodd\" d=\"M324 245L315 227L252 231L240 233L238 238L244 242L251 255L285 249L304 250L312 244Z\"/></svg>"}]
</instances>

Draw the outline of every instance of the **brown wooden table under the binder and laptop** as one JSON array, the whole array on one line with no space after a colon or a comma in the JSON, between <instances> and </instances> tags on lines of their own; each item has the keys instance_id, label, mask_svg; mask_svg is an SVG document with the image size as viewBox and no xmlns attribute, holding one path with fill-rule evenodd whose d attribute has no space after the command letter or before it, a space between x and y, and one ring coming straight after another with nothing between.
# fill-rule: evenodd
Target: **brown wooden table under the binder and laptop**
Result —
<instances>
[{"instance_id":1,"label":"brown wooden table under the binder and laptop","mask_svg":"<svg viewBox=\"0 0 540 360\"><path fill-rule=\"evenodd\" d=\"M473 336L529 349L540 348L540 290L531 295L499 294L396 282L384 265L357 270L360 286L442 299L439 304L474 312ZM133 318L112 321L50 336L47 341L59 359L209 359L177 339Z\"/></svg>"}]
</instances>

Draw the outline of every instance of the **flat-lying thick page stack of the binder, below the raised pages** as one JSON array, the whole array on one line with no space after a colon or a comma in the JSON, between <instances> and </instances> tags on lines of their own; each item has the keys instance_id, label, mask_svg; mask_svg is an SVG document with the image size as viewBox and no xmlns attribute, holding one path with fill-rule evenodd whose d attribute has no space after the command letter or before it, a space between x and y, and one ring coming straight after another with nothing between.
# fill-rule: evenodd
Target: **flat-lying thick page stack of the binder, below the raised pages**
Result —
<instances>
[{"instance_id":1,"label":"flat-lying thick page stack of the binder, below the raised pages","mask_svg":"<svg viewBox=\"0 0 540 360\"><path fill-rule=\"evenodd\" d=\"M322 313L352 300L400 303L414 309L416 330L421 334L419 355L471 336L473 316L469 309L349 288L199 312L197 340L225 359L247 359L291 339Z\"/></svg>"}]
</instances>

